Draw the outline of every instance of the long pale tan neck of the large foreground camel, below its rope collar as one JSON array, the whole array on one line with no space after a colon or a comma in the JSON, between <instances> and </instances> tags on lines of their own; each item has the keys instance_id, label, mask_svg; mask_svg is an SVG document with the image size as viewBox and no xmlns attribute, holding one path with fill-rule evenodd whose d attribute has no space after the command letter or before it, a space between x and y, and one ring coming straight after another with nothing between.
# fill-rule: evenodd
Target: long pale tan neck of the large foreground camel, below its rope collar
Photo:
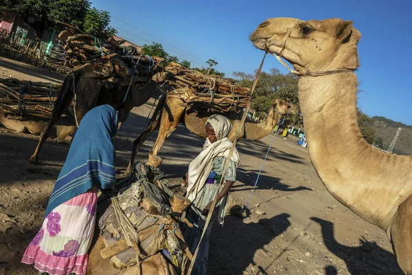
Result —
<instances>
[{"instance_id":1,"label":"long pale tan neck of the large foreground camel, below its rope collar","mask_svg":"<svg viewBox=\"0 0 412 275\"><path fill-rule=\"evenodd\" d=\"M363 139L357 85L354 73L299 80L310 159L332 196L385 230L393 209L410 195L411 178L393 179L409 174L411 157L380 152Z\"/></svg>"}]
</instances>

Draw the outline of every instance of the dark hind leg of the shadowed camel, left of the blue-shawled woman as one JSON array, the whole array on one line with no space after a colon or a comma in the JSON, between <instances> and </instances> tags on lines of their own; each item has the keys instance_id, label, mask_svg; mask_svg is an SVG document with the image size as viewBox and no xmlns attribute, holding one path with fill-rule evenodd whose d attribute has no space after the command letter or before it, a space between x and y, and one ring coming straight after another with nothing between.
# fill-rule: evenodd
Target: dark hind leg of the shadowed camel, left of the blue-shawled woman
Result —
<instances>
[{"instance_id":1,"label":"dark hind leg of the shadowed camel, left of the blue-shawled woman","mask_svg":"<svg viewBox=\"0 0 412 275\"><path fill-rule=\"evenodd\" d=\"M50 117L45 129L41 131L36 150L34 151L32 157L30 157L29 162L36 163L38 161L38 152L40 151L43 142L45 142L49 136L50 131L53 129L54 124L56 124L63 111L69 107L69 104L73 99L73 93L71 92L72 81L72 78L67 77L65 82L62 84L62 87L60 88L61 93L56 100L56 105L54 105L52 116Z\"/></svg>"}]
</instances>

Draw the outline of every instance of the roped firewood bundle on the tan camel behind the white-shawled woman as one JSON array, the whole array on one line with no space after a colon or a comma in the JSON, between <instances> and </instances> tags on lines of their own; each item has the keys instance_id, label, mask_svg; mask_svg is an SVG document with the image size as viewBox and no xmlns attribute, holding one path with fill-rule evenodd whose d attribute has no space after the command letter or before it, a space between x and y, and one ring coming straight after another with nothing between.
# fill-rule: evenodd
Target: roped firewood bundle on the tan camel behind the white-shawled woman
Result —
<instances>
[{"instance_id":1,"label":"roped firewood bundle on the tan camel behind the white-shawled woman","mask_svg":"<svg viewBox=\"0 0 412 275\"><path fill-rule=\"evenodd\" d=\"M184 88L180 98L185 107L218 113L239 112L249 101L249 88L239 87L227 78L186 69L177 63L165 67L165 76L174 89Z\"/></svg>"}]
</instances>

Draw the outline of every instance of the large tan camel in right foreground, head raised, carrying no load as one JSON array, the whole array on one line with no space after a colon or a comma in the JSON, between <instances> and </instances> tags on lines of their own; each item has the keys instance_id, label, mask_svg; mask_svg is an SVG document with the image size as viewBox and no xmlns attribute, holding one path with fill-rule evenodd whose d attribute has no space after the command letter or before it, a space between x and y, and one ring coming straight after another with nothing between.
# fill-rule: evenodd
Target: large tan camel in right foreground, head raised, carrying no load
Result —
<instances>
[{"instance_id":1,"label":"large tan camel in right foreground, head raised, carrying no load","mask_svg":"<svg viewBox=\"0 0 412 275\"><path fill-rule=\"evenodd\" d=\"M412 157L374 149L356 119L357 44L352 21L268 19L255 47L281 54L299 79L310 159L328 191L387 232L398 263L412 274Z\"/></svg>"}]
</instances>

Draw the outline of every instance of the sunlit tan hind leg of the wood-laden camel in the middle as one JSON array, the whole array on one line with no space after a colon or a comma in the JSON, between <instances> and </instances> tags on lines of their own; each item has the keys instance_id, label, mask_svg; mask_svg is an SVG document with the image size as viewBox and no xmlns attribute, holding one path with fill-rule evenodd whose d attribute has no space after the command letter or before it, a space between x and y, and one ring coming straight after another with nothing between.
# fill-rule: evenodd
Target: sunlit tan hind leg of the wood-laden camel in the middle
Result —
<instances>
[{"instance_id":1,"label":"sunlit tan hind leg of the wood-laden camel in the middle","mask_svg":"<svg viewBox=\"0 0 412 275\"><path fill-rule=\"evenodd\" d=\"M181 121L185 107L181 107L179 102L181 102L179 98L166 98L165 106L161 114L159 135L157 135L155 145L150 152L152 155L159 153L166 138L172 135Z\"/></svg>"}]
</instances>

